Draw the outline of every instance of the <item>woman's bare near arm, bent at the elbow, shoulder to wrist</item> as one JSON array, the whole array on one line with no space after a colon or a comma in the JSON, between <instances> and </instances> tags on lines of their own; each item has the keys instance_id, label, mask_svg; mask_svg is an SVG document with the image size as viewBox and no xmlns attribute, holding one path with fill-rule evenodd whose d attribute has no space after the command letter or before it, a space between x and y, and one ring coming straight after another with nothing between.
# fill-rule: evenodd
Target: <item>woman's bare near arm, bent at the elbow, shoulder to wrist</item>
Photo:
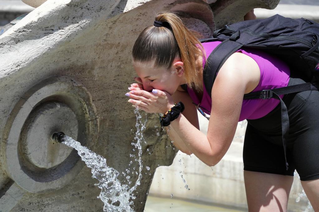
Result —
<instances>
[{"instance_id":1,"label":"woman's bare near arm, bent at the elbow, shoulder to wrist","mask_svg":"<svg viewBox=\"0 0 319 212\"><path fill-rule=\"evenodd\" d=\"M170 124L189 150L209 166L221 160L234 138L246 89L245 77L239 73L229 62L220 69L211 94L212 108L207 136L184 115Z\"/></svg>"}]
</instances>

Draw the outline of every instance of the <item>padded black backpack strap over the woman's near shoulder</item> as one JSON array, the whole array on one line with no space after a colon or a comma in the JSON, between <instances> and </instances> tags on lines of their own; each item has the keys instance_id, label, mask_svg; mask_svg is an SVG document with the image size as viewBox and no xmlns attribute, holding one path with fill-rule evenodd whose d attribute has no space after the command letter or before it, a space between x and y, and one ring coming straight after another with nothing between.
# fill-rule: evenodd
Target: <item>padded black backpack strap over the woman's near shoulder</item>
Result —
<instances>
[{"instance_id":1,"label":"padded black backpack strap over the woman's near shoulder","mask_svg":"<svg viewBox=\"0 0 319 212\"><path fill-rule=\"evenodd\" d=\"M209 96L215 82L217 73L230 55L243 45L236 41L224 40L208 56L203 70L204 86Z\"/></svg>"}]
</instances>

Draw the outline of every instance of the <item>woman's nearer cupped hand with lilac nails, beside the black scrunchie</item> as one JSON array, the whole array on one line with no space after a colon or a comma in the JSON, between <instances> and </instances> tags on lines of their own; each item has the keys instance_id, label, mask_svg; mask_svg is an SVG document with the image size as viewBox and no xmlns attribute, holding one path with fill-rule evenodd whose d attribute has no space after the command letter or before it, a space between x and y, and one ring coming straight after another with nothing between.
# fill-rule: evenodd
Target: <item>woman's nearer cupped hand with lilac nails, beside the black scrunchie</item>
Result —
<instances>
[{"instance_id":1,"label":"woman's nearer cupped hand with lilac nails, beside the black scrunchie","mask_svg":"<svg viewBox=\"0 0 319 212\"><path fill-rule=\"evenodd\" d=\"M148 113L166 113L172 106L174 101L172 96L166 91L153 89L152 92L144 90L134 90L126 93L131 99L128 102L132 103L134 107Z\"/></svg>"}]
</instances>

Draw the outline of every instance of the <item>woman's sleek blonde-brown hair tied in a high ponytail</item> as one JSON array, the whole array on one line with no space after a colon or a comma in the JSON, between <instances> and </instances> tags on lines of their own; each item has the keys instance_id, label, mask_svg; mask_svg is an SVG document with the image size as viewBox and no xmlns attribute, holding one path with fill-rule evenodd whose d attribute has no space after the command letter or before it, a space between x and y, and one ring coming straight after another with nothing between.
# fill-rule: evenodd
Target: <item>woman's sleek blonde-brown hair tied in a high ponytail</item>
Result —
<instances>
[{"instance_id":1,"label":"woman's sleek blonde-brown hair tied in a high ponytail","mask_svg":"<svg viewBox=\"0 0 319 212\"><path fill-rule=\"evenodd\" d=\"M202 63L198 56L204 56L204 48L174 13L161 12L155 17L163 22L163 27L146 27L135 41L132 60L134 62L154 62L157 68L169 69L176 57L180 57L184 64L184 76L187 85L198 91L202 79L198 75ZM200 64L199 64L200 63Z\"/></svg>"}]
</instances>

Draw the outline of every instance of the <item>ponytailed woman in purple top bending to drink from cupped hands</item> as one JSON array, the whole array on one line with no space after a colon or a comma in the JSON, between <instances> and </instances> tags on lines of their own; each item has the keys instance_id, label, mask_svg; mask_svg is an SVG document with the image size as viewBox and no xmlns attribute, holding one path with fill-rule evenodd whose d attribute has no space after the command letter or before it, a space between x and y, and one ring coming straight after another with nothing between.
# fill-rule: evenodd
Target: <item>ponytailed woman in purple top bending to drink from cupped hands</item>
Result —
<instances>
[{"instance_id":1,"label":"ponytailed woman in purple top bending to drink from cupped hands","mask_svg":"<svg viewBox=\"0 0 319 212\"><path fill-rule=\"evenodd\" d=\"M145 112L159 113L174 145L209 166L225 155L238 121L247 119L243 161L249 211L286 211L295 170L319 211L319 92L281 96L291 135L284 156L280 101L243 96L304 81L291 78L288 65L275 56L241 48L222 65L208 94L203 69L219 43L202 44L178 16L157 14L134 44L132 62L138 77L125 94L128 101ZM207 135L199 130L197 110L210 114Z\"/></svg>"}]
</instances>

